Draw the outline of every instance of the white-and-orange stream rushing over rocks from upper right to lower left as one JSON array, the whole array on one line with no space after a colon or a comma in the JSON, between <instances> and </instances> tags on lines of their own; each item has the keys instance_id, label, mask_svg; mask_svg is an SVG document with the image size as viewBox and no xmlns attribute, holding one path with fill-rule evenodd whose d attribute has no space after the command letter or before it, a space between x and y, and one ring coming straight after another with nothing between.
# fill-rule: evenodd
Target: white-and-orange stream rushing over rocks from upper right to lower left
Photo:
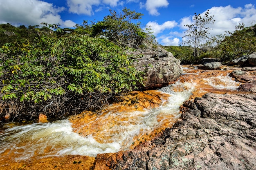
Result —
<instances>
[{"instance_id":1,"label":"white-and-orange stream rushing over rocks from upper right to lower left","mask_svg":"<svg viewBox=\"0 0 256 170\"><path fill-rule=\"evenodd\" d=\"M95 157L98 153L127 150L171 127L179 119L180 105L191 96L209 91L232 91L239 86L227 73L209 72L208 76L202 76L197 69L184 71L180 81L159 89L168 94L168 98L162 99L157 108L92 113L79 125L72 124L70 119L29 125L6 124L0 129L0 161L63 155Z\"/></svg>"}]
</instances>

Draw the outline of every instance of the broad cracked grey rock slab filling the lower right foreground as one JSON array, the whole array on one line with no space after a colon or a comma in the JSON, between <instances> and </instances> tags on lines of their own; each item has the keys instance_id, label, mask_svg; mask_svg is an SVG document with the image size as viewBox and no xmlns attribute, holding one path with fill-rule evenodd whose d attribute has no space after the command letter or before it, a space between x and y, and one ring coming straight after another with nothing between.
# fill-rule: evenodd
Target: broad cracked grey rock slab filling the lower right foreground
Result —
<instances>
[{"instance_id":1,"label":"broad cracked grey rock slab filling the lower right foreground","mask_svg":"<svg viewBox=\"0 0 256 170\"><path fill-rule=\"evenodd\" d=\"M208 93L182 107L182 119L173 128L133 150L99 154L102 164L94 169L255 169L256 95Z\"/></svg>"}]
</instances>

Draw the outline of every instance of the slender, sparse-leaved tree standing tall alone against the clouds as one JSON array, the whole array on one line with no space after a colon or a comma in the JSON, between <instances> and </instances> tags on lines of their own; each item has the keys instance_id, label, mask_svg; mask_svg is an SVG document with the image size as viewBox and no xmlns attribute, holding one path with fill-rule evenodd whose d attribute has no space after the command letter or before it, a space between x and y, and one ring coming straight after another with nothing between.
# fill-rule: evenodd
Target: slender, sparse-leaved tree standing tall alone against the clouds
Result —
<instances>
[{"instance_id":1,"label":"slender, sparse-leaved tree standing tall alone against the clouds","mask_svg":"<svg viewBox=\"0 0 256 170\"><path fill-rule=\"evenodd\" d=\"M198 57L200 47L202 47L208 38L210 28L207 25L214 24L215 20L213 20L213 16L209 16L209 10L207 10L204 16L201 16L200 13L198 15L195 13L193 20L193 24L185 25L188 29L185 31L185 36L183 37L186 40L182 44L191 45L194 48L193 56Z\"/></svg>"}]
</instances>

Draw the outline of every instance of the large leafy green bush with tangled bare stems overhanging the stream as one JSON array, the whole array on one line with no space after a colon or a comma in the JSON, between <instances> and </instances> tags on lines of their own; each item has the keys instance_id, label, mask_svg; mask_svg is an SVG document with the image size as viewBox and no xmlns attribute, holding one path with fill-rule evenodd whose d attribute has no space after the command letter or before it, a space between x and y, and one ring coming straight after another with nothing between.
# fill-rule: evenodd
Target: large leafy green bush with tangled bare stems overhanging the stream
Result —
<instances>
[{"instance_id":1,"label":"large leafy green bush with tangled bare stems overhanging the stream","mask_svg":"<svg viewBox=\"0 0 256 170\"><path fill-rule=\"evenodd\" d=\"M20 106L14 114L18 119L99 108L112 96L142 85L142 73L124 47L106 38L67 33L58 25L49 27L54 27L55 36L17 38L0 48L2 100Z\"/></svg>"}]
</instances>

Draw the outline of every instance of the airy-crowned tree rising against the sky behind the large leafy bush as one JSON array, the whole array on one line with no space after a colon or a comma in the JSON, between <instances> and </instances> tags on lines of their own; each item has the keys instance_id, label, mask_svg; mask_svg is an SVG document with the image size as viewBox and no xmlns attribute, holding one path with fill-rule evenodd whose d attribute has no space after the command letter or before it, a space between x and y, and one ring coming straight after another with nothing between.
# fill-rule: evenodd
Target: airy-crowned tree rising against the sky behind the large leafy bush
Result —
<instances>
[{"instance_id":1,"label":"airy-crowned tree rising against the sky behind the large leafy bush","mask_svg":"<svg viewBox=\"0 0 256 170\"><path fill-rule=\"evenodd\" d=\"M87 34L91 37L106 38L119 47L140 48L155 43L150 29L144 31L141 22L138 22L143 14L124 8L121 13L110 10L110 15L97 23L84 21L82 25L76 25L76 32Z\"/></svg>"}]
</instances>

